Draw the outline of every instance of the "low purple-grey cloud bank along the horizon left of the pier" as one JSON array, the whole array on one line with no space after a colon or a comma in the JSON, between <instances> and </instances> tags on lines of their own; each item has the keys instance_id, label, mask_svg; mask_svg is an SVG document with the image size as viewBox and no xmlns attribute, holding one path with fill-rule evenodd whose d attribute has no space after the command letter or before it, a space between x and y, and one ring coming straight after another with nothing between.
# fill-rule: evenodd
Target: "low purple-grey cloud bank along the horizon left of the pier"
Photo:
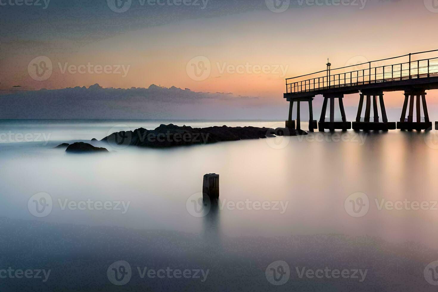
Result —
<instances>
[{"instance_id":1,"label":"low purple-grey cloud bank along the horizon left of the pier","mask_svg":"<svg viewBox=\"0 0 438 292\"><path fill-rule=\"evenodd\" d=\"M3 119L283 120L284 100L195 92L152 84L149 88L85 87L4 91Z\"/></svg>"}]
</instances>

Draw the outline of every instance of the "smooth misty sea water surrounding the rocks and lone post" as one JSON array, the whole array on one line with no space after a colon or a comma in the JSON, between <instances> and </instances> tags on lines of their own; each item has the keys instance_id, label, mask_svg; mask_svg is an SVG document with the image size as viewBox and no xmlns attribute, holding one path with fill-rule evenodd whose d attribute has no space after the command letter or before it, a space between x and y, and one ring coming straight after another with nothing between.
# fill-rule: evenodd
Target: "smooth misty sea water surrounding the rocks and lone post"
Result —
<instances>
[{"instance_id":1,"label":"smooth misty sea water surrounding the rocks and lone post","mask_svg":"<svg viewBox=\"0 0 438 292\"><path fill-rule=\"evenodd\" d=\"M423 272L438 260L438 210L379 210L375 199L424 201L438 209L435 131L315 133L164 150L107 146L107 155L66 155L52 149L62 142L100 140L108 132L152 129L160 123L170 122L2 121L0 133L14 138L0 144L0 269L52 270L47 282L2 279L7 289L434 290ZM172 123L282 126L259 121ZM19 133L30 133L34 140L45 134L41 136L50 140L17 142ZM225 207L193 216L199 214L192 200L201 196L202 176L211 172L220 175L221 204L278 201L279 210ZM53 209L37 218L28 201L41 192L53 199ZM369 199L363 217L347 211L347 197L354 193ZM123 207L62 210L59 202L66 199L130 205L124 214ZM281 204L287 206L283 211ZM113 285L106 275L117 260L126 260L133 270L124 286ZM282 286L265 277L266 267L277 260L290 266L290 280ZM141 279L137 267L210 271L204 282ZM299 278L296 267L368 271L360 282Z\"/></svg>"}]
</instances>

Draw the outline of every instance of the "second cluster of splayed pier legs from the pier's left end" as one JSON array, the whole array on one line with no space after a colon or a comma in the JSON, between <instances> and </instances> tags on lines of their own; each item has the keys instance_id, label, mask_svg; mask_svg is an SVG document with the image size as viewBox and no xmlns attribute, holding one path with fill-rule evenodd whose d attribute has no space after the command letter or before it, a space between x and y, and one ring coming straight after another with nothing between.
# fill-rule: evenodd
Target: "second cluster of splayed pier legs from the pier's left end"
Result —
<instances>
[{"instance_id":1,"label":"second cluster of splayed pier legs from the pier's left end","mask_svg":"<svg viewBox=\"0 0 438 292\"><path fill-rule=\"evenodd\" d=\"M334 130L350 130L351 129L351 123L347 122L346 116L345 116L345 109L344 109L344 103L343 99L344 95L341 94L327 94L324 95L324 103L322 104L322 110L321 110L321 118L319 119L318 127L320 132L324 132L325 129L328 129L330 131ZM325 115L327 113L327 103L330 99L330 117L327 121L325 119ZM335 121L335 99L339 99L339 110L341 112L342 121Z\"/></svg>"}]
</instances>

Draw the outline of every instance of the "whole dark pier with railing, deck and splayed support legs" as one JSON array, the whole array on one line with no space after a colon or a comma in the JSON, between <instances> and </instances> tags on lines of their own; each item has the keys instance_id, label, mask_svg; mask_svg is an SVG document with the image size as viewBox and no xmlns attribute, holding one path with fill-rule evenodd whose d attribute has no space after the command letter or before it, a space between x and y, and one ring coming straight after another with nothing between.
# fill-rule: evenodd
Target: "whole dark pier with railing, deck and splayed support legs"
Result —
<instances>
[{"instance_id":1,"label":"whole dark pier with railing, deck and splayed support legs","mask_svg":"<svg viewBox=\"0 0 438 292\"><path fill-rule=\"evenodd\" d=\"M327 63L326 70L287 78L284 98L290 103L290 107L286 127L301 129L300 103L308 102L310 131L316 129L317 124L320 131L345 131L351 128L429 130L432 123L427 112L426 91L438 89L438 56L427 55L434 54L438 55L438 50L410 53L336 69L331 69L332 64ZM398 122L389 122L386 115L384 92L389 91L404 91L403 109ZM360 98L356 121L351 123L346 120L343 99L344 95L354 93L359 93ZM322 95L324 98L318 123L313 120L312 110L312 102L316 95ZM335 119L336 99L339 103L340 119ZM327 118L329 102L330 111ZM292 120L294 103L297 104L296 124Z\"/></svg>"}]
</instances>

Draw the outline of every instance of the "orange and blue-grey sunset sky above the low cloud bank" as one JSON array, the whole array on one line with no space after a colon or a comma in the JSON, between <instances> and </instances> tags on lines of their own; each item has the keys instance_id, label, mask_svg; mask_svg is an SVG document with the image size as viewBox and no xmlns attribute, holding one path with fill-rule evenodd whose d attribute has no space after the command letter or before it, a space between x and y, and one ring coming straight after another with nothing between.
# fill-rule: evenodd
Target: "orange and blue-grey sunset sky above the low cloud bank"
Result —
<instances>
[{"instance_id":1,"label":"orange and blue-grey sunset sky above the low cloud bank","mask_svg":"<svg viewBox=\"0 0 438 292\"><path fill-rule=\"evenodd\" d=\"M437 0L124 1L0 0L0 92L155 84L287 111L285 78L328 58L344 67L438 49ZM344 103L353 110L358 96ZM385 103L401 108L403 93Z\"/></svg>"}]
</instances>

